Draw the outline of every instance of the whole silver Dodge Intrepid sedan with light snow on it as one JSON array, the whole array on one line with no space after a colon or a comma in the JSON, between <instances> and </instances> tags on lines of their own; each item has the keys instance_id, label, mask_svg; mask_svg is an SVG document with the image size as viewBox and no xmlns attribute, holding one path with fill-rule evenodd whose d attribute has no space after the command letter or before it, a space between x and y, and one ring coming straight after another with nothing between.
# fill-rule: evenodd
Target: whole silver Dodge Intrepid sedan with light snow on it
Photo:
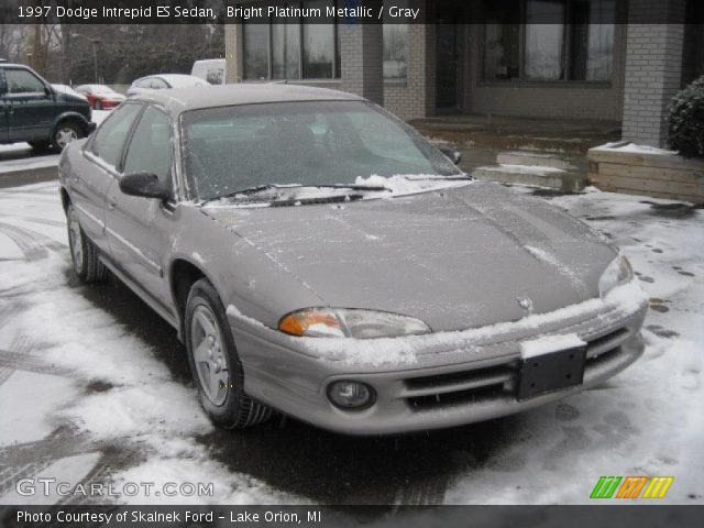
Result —
<instances>
[{"instance_id":1,"label":"whole silver Dodge Intrepid sedan with light snow on it","mask_svg":"<svg viewBox=\"0 0 704 528\"><path fill-rule=\"evenodd\" d=\"M138 96L62 154L73 266L174 326L224 428L274 409L351 435L442 428L632 363L647 298L628 261L458 161L350 94Z\"/></svg>"}]
</instances>

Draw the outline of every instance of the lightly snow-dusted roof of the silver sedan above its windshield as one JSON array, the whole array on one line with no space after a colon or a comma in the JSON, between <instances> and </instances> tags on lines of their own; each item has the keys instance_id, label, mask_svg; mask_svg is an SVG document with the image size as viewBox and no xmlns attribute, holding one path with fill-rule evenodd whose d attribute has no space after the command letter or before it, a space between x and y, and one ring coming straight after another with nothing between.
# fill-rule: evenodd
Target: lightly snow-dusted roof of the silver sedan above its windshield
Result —
<instances>
[{"instance_id":1,"label":"lightly snow-dusted roof of the silver sedan above its windshield","mask_svg":"<svg viewBox=\"0 0 704 528\"><path fill-rule=\"evenodd\" d=\"M234 105L294 101L363 101L364 98L346 91L311 86L279 82L240 82L155 90L131 97L130 100L156 102L174 113L180 113L188 110Z\"/></svg>"}]
</instances>

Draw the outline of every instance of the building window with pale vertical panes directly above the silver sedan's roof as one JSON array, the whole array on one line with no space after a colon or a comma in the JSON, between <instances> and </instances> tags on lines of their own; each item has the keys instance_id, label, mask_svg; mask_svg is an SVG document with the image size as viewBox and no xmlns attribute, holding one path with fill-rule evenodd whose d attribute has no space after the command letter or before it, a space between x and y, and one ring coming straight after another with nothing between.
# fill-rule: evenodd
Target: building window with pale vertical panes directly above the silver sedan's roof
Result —
<instances>
[{"instance_id":1,"label":"building window with pale vertical panes directly above the silver sedan's roof","mask_svg":"<svg viewBox=\"0 0 704 528\"><path fill-rule=\"evenodd\" d=\"M318 8L326 16L328 7L342 0L286 2L289 8ZM242 23L243 77L262 79L331 79L340 76L338 29L333 20L297 24L272 18L266 23Z\"/></svg>"}]
</instances>

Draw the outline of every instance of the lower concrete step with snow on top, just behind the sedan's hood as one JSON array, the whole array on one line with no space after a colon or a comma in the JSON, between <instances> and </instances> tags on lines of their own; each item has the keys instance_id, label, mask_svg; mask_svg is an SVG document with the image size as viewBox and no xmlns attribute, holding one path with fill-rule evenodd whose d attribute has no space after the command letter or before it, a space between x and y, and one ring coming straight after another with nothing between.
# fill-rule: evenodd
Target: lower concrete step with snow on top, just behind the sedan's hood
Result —
<instances>
[{"instance_id":1,"label":"lower concrete step with snow on top, just behind the sedan's hood","mask_svg":"<svg viewBox=\"0 0 704 528\"><path fill-rule=\"evenodd\" d=\"M529 185L574 193L584 189L586 176L561 168L535 165L492 165L472 170L476 179L501 182L503 184Z\"/></svg>"}]
</instances>

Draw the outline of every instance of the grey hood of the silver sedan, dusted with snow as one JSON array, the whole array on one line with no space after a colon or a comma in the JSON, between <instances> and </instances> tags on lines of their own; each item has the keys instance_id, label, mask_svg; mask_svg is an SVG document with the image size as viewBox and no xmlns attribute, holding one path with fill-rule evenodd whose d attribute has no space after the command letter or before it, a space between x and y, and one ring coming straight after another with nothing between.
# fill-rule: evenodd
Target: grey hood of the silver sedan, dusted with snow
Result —
<instances>
[{"instance_id":1,"label":"grey hood of the silver sedan, dusted with snow","mask_svg":"<svg viewBox=\"0 0 704 528\"><path fill-rule=\"evenodd\" d=\"M343 205L204 212L328 306L403 314L435 331L520 319L519 298L542 314L597 297L616 256L547 201L477 182Z\"/></svg>"}]
</instances>

